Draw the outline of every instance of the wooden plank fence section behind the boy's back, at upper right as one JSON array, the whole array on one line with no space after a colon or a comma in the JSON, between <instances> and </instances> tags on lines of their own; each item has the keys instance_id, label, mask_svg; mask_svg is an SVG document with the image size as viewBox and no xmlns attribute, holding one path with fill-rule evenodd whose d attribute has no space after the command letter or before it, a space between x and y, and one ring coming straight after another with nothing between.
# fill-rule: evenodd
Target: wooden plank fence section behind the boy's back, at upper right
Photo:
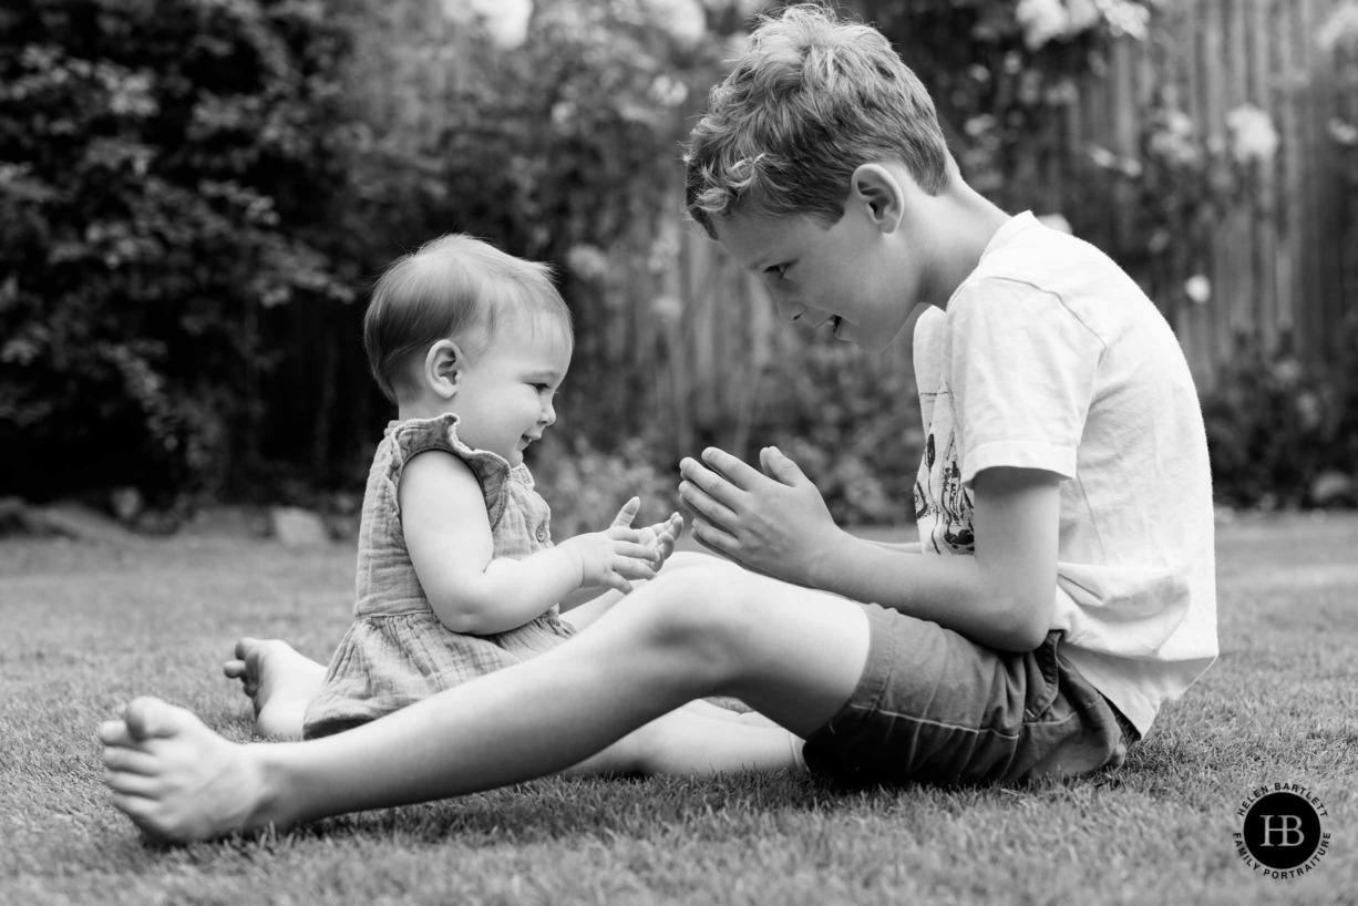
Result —
<instances>
[{"instance_id":1,"label":"wooden plank fence section behind the boy's back, at upper right","mask_svg":"<svg viewBox=\"0 0 1358 906\"><path fill-rule=\"evenodd\" d=\"M1244 105L1267 113L1277 130L1277 153L1238 182L1209 231L1205 259L1180 261L1153 281L1202 384L1240 337L1328 360L1353 352L1339 348L1338 326L1358 315L1358 185L1346 183L1343 170L1354 171L1358 149L1336 133L1358 125L1358 39L1347 50L1323 41L1344 1L1175 0L1149 41L1114 45L1107 73L1086 79L1069 110L1067 166L1050 185L1054 211L1065 208L1070 181L1088 174L1081 156L1096 148L1141 155L1157 98L1188 114L1202 151L1229 153L1228 117ZM1111 215L1093 239L1124 244L1116 234L1126 217ZM1210 296L1194 302L1184 284L1199 273Z\"/></svg>"}]
</instances>

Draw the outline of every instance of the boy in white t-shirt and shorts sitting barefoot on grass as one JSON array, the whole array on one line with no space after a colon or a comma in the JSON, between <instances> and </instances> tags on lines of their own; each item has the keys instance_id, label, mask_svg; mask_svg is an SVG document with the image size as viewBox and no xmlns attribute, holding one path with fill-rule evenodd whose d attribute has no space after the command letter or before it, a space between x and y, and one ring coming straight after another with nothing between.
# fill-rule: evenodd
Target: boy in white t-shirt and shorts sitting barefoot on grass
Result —
<instances>
[{"instance_id":1,"label":"boy in white t-shirt and shorts sitting barefoot on grass","mask_svg":"<svg viewBox=\"0 0 1358 906\"><path fill-rule=\"evenodd\" d=\"M660 573L539 657L315 742L235 746L137 700L100 738L145 833L515 782L713 694L845 781L1076 776L1211 663L1206 440L1168 325L1097 250L963 182L879 33L815 7L763 23L694 129L687 198L785 318L868 350L914 334L922 542L849 537L775 450L762 471L708 450L680 466L695 535L750 569Z\"/></svg>"}]
</instances>

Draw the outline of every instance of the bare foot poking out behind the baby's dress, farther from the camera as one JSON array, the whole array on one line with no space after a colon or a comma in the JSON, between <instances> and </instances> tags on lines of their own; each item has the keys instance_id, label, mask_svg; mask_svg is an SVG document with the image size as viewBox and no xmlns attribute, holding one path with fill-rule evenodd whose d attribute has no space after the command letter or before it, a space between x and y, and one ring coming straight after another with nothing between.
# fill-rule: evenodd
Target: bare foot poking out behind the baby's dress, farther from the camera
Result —
<instances>
[{"instance_id":1,"label":"bare foot poking out behind the baby's dress, farther from the camera","mask_svg":"<svg viewBox=\"0 0 1358 906\"><path fill-rule=\"evenodd\" d=\"M301 739L307 704L320 691L326 668L277 638L242 638L236 657L223 666L254 704L255 735Z\"/></svg>"}]
</instances>

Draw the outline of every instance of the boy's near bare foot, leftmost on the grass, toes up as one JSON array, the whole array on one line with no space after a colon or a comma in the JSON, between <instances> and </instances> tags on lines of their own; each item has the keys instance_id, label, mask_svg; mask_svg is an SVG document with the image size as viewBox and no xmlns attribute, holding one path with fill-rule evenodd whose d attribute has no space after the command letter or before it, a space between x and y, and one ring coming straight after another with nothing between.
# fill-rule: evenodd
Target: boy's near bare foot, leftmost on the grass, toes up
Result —
<instances>
[{"instance_id":1,"label":"boy's near bare foot, leftmost on the grass, toes up","mask_svg":"<svg viewBox=\"0 0 1358 906\"><path fill-rule=\"evenodd\" d=\"M183 708L136 698L99 727L113 804L153 839L212 839L268 823L263 776L251 750L227 742Z\"/></svg>"}]
</instances>

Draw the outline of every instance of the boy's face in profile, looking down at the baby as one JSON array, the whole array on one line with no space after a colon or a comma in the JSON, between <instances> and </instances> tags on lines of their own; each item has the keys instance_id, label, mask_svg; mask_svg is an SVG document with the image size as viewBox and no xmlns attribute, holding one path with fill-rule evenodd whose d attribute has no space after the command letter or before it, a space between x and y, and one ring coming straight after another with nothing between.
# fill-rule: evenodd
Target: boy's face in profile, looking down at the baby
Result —
<instances>
[{"instance_id":1,"label":"boy's face in profile, looking down at the baby","mask_svg":"<svg viewBox=\"0 0 1358 906\"><path fill-rule=\"evenodd\" d=\"M868 352L891 344L923 295L921 255L853 204L831 227L805 215L735 213L714 228L785 321L828 327Z\"/></svg>"}]
</instances>

